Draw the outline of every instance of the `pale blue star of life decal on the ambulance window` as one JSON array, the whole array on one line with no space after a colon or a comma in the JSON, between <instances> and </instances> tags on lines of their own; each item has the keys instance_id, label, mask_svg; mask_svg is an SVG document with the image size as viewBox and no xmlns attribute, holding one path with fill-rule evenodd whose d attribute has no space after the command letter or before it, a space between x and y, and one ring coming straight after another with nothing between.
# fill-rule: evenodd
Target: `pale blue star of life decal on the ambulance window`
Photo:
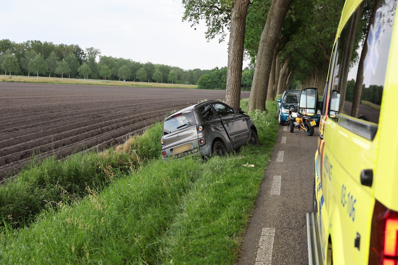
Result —
<instances>
[{"instance_id":1,"label":"pale blue star of life decal on the ambulance window","mask_svg":"<svg viewBox=\"0 0 398 265\"><path fill-rule=\"evenodd\" d=\"M382 33L381 22L379 20L380 12L381 8L376 11L375 23L370 25L369 35L366 41L368 45L368 52L365 57L365 67L363 71L365 87L369 87L371 85L371 75L375 74L378 62L377 43Z\"/></svg>"}]
</instances>

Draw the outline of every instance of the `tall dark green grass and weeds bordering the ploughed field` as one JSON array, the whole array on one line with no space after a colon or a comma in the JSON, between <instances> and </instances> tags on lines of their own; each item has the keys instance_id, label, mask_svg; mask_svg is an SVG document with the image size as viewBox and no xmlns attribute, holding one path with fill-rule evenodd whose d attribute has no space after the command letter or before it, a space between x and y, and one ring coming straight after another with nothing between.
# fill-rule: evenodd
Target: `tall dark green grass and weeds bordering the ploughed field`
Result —
<instances>
[{"instance_id":1,"label":"tall dark green grass and weeds bordering the ploughed field","mask_svg":"<svg viewBox=\"0 0 398 265\"><path fill-rule=\"evenodd\" d=\"M0 224L21 227L35 221L42 210L80 200L88 187L102 190L142 162L159 157L161 133L162 123L157 123L115 150L75 153L64 161L56 156L41 162L33 158L14 181L0 185Z\"/></svg>"}]
</instances>

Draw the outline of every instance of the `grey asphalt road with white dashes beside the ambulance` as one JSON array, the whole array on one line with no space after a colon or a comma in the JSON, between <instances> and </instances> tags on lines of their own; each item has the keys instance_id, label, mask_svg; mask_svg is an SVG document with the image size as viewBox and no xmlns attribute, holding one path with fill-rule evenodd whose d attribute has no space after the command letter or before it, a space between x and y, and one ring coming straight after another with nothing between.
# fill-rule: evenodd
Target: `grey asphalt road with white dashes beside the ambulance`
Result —
<instances>
[{"instance_id":1,"label":"grey asphalt road with white dashes beside the ambulance","mask_svg":"<svg viewBox=\"0 0 398 265\"><path fill-rule=\"evenodd\" d=\"M308 264L306 213L312 210L318 128L308 136L279 127L239 265Z\"/></svg>"}]
</instances>

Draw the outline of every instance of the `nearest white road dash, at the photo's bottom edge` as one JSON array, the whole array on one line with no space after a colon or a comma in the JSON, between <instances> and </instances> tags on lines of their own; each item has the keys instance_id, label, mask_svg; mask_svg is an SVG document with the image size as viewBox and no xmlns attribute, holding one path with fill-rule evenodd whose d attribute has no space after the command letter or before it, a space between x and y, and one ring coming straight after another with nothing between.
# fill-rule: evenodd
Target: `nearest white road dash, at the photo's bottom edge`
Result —
<instances>
[{"instance_id":1,"label":"nearest white road dash, at the photo's bottom edge","mask_svg":"<svg viewBox=\"0 0 398 265\"><path fill-rule=\"evenodd\" d=\"M256 265L271 265L275 228L263 228L258 244Z\"/></svg>"}]
</instances>

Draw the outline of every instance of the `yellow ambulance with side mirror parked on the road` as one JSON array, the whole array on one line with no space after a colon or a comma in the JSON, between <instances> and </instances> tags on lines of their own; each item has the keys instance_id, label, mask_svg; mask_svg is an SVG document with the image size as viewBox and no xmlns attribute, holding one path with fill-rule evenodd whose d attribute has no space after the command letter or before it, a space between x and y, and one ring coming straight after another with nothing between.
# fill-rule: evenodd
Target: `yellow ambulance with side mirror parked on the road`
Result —
<instances>
[{"instance_id":1,"label":"yellow ambulance with side mirror parked on the road","mask_svg":"<svg viewBox=\"0 0 398 265\"><path fill-rule=\"evenodd\" d=\"M307 213L310 264L398 265L397 0L347 0L322 101L300 91L298 113L321 111Z\"/></svg>"}]
</instances>

